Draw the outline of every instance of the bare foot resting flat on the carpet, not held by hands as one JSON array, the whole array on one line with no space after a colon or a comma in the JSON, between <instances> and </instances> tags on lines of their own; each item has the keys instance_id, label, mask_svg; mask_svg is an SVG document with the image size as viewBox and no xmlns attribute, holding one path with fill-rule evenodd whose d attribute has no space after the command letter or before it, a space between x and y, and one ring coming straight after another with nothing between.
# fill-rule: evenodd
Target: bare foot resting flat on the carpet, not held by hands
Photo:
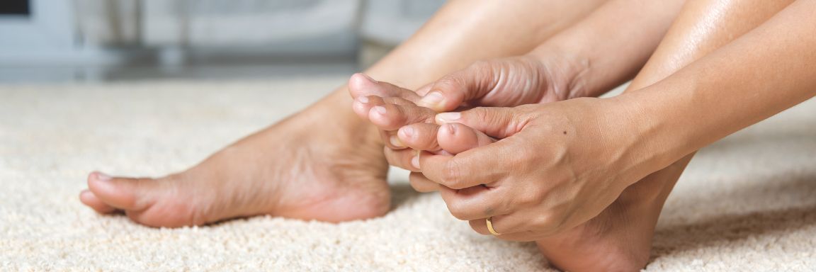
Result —
<instances>
[{"instance_id":1,"label":"bare foot resting flat on the carpet, not held by hands","mask_svg":"<svg viewBox=\"0 0 816 272\"><path fill-rule=\"evenodd\" d=\"M80 199L97 212L125 212L155 227L255 215L331 222L382 216L390 205L383 145L350 104L335 92L170 176L93 172Z\"/></svg>"}]
</instances>

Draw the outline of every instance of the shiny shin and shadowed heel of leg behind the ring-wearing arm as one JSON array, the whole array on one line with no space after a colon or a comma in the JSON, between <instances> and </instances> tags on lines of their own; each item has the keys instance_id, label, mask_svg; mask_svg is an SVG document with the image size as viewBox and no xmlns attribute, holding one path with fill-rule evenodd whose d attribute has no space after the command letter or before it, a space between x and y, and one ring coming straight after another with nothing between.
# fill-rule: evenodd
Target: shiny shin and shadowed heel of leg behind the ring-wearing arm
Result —
<instances>
[{"instance_id":1,"label":"shiny shin and shadowed heel of leg behind the ring-wearing arm","mask_svg":"<svg viewBox=\"0 0 816 272\"><path fill-rule=\"evenodd\" d=\"M627 91L659 82L761 25L790 2L687 2ZM601 215L566 234L538 241L539 248L553 264L567 270L640 270L649 259L654 225L663 203L692 156L646 176L624 190Z\"/></svg>"}]
</instances>

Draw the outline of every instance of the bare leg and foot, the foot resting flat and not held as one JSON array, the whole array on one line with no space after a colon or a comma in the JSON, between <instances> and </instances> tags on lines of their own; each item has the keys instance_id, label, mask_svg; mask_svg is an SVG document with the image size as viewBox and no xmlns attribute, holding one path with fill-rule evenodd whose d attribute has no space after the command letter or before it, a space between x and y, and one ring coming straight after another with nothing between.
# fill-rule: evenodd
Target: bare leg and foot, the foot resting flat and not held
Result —
<instances>
[{"instance_id":1,"label":"bare leg and foot, the foot resting flat and not held","mask_svg":"<svg viewBox=\"0 0 816 272\"><path fill-rule=\"evenodd\" d=\"M475 60L529 51L600 2L450 2L366 73L419 87ZM541 16L543 10L557 16ZM322 221L381 216L390 203L383 145L350 103L348 90L339 88L170 176L91 173L80 199L97 212L120 210L141 224L166 227L260 214Z\"/></svg>"}]
</instances>

